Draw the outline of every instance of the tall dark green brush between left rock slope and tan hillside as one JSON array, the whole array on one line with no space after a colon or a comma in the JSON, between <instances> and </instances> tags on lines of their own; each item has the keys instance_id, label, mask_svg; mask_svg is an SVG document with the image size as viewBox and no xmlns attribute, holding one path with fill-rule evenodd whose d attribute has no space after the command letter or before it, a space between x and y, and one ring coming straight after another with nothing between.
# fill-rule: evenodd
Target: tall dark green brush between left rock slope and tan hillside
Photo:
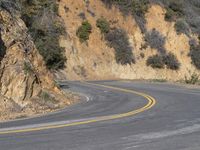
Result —
<instances>
[{"instance_id":1,"label":"tall dark green brush between left rock slope and tan hillside","mask_svg":"<svg viewBox=\"0 0 200 150\"><path fill-rule=\"evenodd\" d=\"M55 0L18 0L21 18L26 23L34 43L49 69L64 68L66 57L59 45L60 35L65 34L58 16Z\"/></svg>"}]
</instances>

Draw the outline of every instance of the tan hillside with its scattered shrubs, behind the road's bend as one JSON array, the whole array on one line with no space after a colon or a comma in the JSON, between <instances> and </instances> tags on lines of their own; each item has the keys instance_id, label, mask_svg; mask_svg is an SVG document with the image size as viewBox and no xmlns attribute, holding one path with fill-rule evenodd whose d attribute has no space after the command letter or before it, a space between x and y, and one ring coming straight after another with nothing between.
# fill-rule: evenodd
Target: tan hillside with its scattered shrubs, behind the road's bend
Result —
<instances>
[{"instance_id":1,"label":"tan hillside with its scattered shrubs, behind the road's bend","mask_svg":"<svg viewBox=\"0 0 200 150\"><path fill-rule=\"evenodd\" d=\"M181 80L198 74L199 9L198 1L183 0L60 0L67 32L60 40L67 57L63 76ZM81 41L77 32L85 22L91 30Z\"/></svg>"}]
</instances>

